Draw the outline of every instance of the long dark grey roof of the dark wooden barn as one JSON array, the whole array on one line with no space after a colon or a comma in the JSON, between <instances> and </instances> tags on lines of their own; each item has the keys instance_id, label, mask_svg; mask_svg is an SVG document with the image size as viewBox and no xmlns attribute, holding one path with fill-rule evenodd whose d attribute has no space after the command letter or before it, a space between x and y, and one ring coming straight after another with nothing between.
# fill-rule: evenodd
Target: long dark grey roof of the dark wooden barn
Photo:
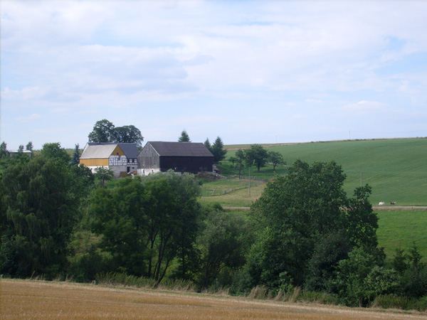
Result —
<instances>
[{"instance_id":1,"label":"long dark grey roof of the dark wooden barn","mask_svg":"<svg viewBox=\"0 0 427 320\"><path fill-rule=\"evenodd\" d=\"M159 156L214 156L201 142L147 142Z\"/></svg>"}]
</instances>

